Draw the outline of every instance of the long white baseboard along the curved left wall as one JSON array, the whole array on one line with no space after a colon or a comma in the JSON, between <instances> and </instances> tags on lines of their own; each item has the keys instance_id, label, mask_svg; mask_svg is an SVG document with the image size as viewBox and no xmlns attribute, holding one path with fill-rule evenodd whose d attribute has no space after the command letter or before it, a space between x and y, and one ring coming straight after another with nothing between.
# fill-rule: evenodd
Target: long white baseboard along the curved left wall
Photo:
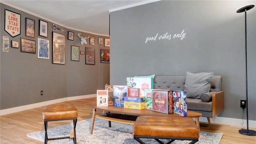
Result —
<instances>
[{"instance_id":1,"label":"long white baseboard along the curved left wall","mask_svg":"<svg viewBox=\"0 0 256 144\"><path fill-rule=\"evenodd\" d=\"M28 104L25 106L18 106L18 107L14 107L14 108L7 108L4 110L0 110L0 116L6 115L6 114L12 114L14 112L21 112L23 110L30 110L32 108L38 108L41 106L47 106L50 104L56 104L59 102L66 102L69 100L79 100L79 99L83 99L83 98L92 98L95 97L96 94L88 94L88 95L83 95L83 96L71 96L71 97L67 97L67 98L59 98L56 100L49 100L49 101L45 101L45 102L38 102L35 104Z\"/></svg>"}]
</instances>

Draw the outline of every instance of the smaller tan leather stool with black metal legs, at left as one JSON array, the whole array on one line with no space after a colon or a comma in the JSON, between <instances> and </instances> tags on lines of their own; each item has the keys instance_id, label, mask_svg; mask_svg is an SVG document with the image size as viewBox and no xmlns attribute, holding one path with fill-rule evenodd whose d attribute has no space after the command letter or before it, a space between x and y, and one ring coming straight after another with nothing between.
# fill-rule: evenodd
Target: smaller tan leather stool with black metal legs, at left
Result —
<instances>
[{"instance_id":1,"label":"smaller tan leather stool with black metal legs, at left","mask_svg":"<svg viewBox=\"0 0 256 144\"><path fill-rule=\"evenodd\" d=\"M48 140L58 140L64 138L73 138L74 144L76 144L76 122L77 122L77 109L74 104L52 104L45 106L43 111L45 138L44 144L47 144ZM70 131L70 136L60 138L48 138L47 135L47 122L57 120L73 120L74 129Z\"/></svg>"}]
</instances>

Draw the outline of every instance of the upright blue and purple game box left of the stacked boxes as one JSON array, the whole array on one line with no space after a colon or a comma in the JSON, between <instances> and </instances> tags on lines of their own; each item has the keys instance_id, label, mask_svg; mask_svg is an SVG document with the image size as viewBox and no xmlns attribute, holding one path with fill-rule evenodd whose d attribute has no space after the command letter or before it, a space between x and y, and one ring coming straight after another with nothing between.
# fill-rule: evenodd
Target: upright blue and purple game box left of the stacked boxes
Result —
<instances>
[{"instance_id":1,"label":"upright blue and purple game box left of the stacked boxes","mask_svg":"<svg viewBox=\"0 0 256 144\"><path fill-rule=\"evenodd\" d=\"M113 106L124 107L124 97L128 94L128 86L113 85Z\"/></svg>"}]
</instances>

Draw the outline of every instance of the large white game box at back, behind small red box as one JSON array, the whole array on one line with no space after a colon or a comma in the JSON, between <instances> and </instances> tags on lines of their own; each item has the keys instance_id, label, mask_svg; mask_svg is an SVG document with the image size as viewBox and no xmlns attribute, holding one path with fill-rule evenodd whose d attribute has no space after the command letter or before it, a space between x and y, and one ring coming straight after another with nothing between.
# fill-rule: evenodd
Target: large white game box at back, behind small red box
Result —
<instances>
[{"instance_id":1,"label":"large white game box at back, behind small red box","mask_svg":"<svg viewBox=\"0 0 256 144\"><path fill-rule=\"evenodd\" d=\"M140 97L144 97L144 90L153 88L153 78L126 78L129 88L140 88Z\"/></svg>"}]
</instances>

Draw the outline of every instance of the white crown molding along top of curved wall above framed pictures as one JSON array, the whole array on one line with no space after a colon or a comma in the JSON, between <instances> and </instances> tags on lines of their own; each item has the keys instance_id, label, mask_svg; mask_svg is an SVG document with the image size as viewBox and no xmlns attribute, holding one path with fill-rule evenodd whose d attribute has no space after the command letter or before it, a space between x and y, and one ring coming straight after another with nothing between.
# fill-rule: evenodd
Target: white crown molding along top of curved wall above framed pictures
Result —
<instances>
[{"instance_id":1,"label":"white crown molding along top of curved wall above framed pictures","mask_svg":"<svg viewBox=\"0 0 256 144\"><path fill-rule=\"evenodd\" d=\"M40 16L40 15L38 15L38 14L35 14L35 13L33 13L33 12L30 12L30 11L28 11L28 10L25 10L25 9L23 9L23 8L20 8L20 7L18 7L18 6L14 6L13 4L9 4L8 2L0 1L0 3L5 4L5 5L7 5L7 6L10 6L10 7L12 7L12 8L16 8L17 10L21 10L21 11L26 12L26 13L28 13L28 14L32 14L33 16L37 16L38 18L47 20L47 21L49 21L49 22L51 22L51 23L57 24L57 25L59 25L59 26L62 26L62 27L64 27L64 28L67 28L67 29L76 30L76 31L84 32L84 33L88 33L88 34L94 34L94 35L97 35L97 36L108 36L108 37L109 37L109 35L106 35L106 34L98 34L98 33L94 33L94 32L88 32L88 31L85 31L85 30L79 30L79 29L76 29L76 28L71 28L71 27L69 27L69 26L65 26L65 25L63 25L63 24L60 24L60 23L58 23L58 22L55 22L55 21L53 21L53 20L50 20L50 19L48 19L48 18L45 18L45 17L43 17L43 16Z\"/></svg>"}]
</instances>

